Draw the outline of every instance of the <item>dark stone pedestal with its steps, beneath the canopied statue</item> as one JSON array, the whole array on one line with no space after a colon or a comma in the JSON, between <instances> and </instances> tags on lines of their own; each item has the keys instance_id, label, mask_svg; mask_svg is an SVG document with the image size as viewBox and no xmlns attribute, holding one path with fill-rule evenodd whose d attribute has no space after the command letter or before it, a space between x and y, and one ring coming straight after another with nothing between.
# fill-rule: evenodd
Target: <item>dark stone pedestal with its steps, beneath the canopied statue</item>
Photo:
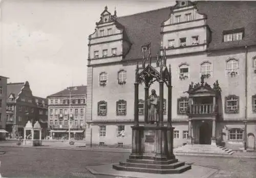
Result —
<instances>
[{"instance_id":1,"label":"dark stone pedestal with its steps, beneath the canopied statue","mask_svg":"<svg viewBox=\"0 0 256 178\"><path fill-rule=\"evenodd\" d=\"M173 129L168 126L132 126L132 153L126 162L113 165L116 170L148 173L181 173L191 169L173 154Z\"/></svg>"}]
</instances>

